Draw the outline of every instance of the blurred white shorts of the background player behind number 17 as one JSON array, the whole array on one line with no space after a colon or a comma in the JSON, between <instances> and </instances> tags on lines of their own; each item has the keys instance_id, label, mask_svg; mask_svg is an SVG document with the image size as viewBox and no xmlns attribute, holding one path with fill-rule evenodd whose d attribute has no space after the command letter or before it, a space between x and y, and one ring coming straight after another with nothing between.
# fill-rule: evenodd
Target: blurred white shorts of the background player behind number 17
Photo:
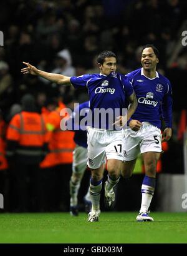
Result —
<instances>
[{"instance_id":1,"label":"blurred white shorts of the background player behind number 17","mask_svg":"<svg viewBox=\"0 0 187 256\"><path fill-rule=\"evenodd\" d=\"M87 148L76 144L73 151L72 169L74 173L84 173L87 168Z\"/></svg>"}]
</instances>

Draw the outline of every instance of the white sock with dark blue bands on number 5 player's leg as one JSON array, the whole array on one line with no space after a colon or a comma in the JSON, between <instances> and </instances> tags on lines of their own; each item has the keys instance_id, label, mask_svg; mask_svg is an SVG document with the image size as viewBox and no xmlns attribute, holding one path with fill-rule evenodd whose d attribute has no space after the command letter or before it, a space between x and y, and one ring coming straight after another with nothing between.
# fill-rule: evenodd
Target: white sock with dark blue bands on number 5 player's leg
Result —
<instances>
[{"instance_id":1,"label":"white sock with dark blue bands on number 5 player's leg","mask_svg":"<svg viewBox=\"0 0 187 256\"><path fill-rule=\"evenodd\" d=\"M154 195L155 188L142 184L141 186L141 208L140 212L147 212Z\"/></svg>"}]
</instances>

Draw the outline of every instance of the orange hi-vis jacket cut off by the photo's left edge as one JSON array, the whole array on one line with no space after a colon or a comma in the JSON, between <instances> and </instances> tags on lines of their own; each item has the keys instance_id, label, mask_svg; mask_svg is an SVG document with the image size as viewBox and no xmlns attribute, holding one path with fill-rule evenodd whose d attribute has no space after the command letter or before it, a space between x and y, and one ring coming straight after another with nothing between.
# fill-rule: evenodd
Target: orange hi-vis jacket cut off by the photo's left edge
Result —
<instances>
[{"instance_id":1,"label":"orange hi-vis jacket cut off by the photo's left edge","mask_svg":"<svg viewBox=\"0 0 187 256\"><path fill-rule=\"evenodd\" d=\"M6 128L6 123L0 121L0 171L6 170L8 168L7 160L5 156L6 142L4 141L4 131Z\"/></svg>"}]
</instances>

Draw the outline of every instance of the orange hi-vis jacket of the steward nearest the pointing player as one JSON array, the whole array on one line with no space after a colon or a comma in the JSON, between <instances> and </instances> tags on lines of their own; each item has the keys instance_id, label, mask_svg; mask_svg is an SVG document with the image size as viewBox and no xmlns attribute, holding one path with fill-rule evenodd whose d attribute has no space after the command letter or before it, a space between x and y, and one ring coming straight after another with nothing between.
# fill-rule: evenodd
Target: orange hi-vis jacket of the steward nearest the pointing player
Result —
<instances>
[{"instance_id":1,"label":"orange hi-vis jacket of the steward nearest the pointing player","mask_svg":"<svg viewBox=\"0 0 187 256\"><path fill-rule=\"evenodd\" d=\"M60 121L64 116L60 116L60 110L65 108L63 103L57 110L51 111L47 117L47 135L49 140L49 153L41 163L41 168L50 168L55 165L72 163L72 152L75 148L74 131L62 131Z\"/></svg>"}]
</instances>

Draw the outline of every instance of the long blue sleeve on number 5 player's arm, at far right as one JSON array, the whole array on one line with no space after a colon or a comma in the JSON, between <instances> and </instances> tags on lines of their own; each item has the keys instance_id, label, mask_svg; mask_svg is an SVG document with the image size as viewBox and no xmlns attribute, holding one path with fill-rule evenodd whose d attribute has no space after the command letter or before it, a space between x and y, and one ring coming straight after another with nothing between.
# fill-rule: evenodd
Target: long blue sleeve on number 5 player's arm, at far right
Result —
<instances>
[{"instance_id":1,"label":"long blue sleeve on number 5 player's arm, at far right","mask_svg":"<svg viewBox=\"0 0 187 256\"><path fill-rule=\"evenodd\" d=\"M171 83L168 79L166 79L167 86L166 86L166 95L163 98L162 102L162 114L163 120L165 121L165 125L167 128L172 128L172 88Z\"/></svg>"}]
</instances>

